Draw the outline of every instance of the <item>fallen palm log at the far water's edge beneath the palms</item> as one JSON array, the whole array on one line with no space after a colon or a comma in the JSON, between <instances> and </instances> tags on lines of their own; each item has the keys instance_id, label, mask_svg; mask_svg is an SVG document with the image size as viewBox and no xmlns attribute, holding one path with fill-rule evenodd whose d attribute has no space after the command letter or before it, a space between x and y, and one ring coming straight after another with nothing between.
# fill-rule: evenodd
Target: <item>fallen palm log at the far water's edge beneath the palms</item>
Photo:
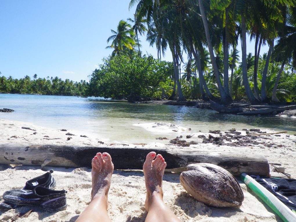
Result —
<instances>
[{"instance_id":1,"label":"fallen palm log at the far water's edge beneath the palms","mask_svg":"<svg viewBox=\"0 0 296 222\"><path fill-rule=\"evenodd\" d=\"M228 107L220 105L216 102L210 102L210 107L220 113L237 114L237 115L258 115L258 114L276 114L285 110L296 109L296 105L291 106L264 106L264 108L257 108L256 106L243 107Z\"/></svg>"}]
</instances>

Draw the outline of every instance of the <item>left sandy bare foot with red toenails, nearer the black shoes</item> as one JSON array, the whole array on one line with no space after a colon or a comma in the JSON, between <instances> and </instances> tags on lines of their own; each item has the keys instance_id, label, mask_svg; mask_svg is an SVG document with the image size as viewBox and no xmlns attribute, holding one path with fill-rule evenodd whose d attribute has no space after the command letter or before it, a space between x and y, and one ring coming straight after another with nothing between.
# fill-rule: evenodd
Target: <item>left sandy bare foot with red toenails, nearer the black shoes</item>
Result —
<instances>
[{"instance_id":1,"label":"left sandy bare foot with red toenails, nearer the black shoes","mask_svg":"<svg viewBox=\"0 0 296 222\"><path fill-rule=\"evenodd\" d=\"M113 163L109 153L97 153L91 160L92 190L91 199L96 197L108 198L108 191L113 173Z\"/></svg>"}]
</instances>

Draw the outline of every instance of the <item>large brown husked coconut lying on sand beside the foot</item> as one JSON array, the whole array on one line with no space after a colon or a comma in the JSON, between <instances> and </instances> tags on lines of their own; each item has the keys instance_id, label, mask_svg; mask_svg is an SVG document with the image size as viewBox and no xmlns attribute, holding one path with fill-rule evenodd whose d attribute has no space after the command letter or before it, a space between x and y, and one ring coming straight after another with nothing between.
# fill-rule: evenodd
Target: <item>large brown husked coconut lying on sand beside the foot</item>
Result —
<instances>
[{"instance_id":1,"label":"large brown husked coconut lying on sand beside the foot","mask_svg":"<svg viewBox=\"0 0 296 222\"><path fill-rule=\"evenodd\" d=\"M210 163L194 163L180 175L184 189L196 200L214 207L239 207L244 200L239 183L227 170Z\"/></svg>"}]
</instances>

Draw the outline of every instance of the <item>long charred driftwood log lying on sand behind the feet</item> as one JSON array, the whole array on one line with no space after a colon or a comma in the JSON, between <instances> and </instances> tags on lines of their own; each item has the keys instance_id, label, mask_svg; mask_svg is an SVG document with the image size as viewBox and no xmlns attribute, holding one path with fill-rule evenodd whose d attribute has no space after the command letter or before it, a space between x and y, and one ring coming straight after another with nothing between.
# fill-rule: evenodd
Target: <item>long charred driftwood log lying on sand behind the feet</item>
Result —
<instances>
[{"instance_id":1,"label":"long charred driftwood log lying on sand behind the feet","mask_svg":"<svg viewBox=\"0 0 296 222\"><path fill-rule=\"evenodd\" d=\"M115 169L142 169L146 155L155 151L165 158L167 169L171 172L183 172L192 163L212 163L234 176L241 173L249 175L269 175L267 159L260 155L241 153L201 152L198 150L110 148L110 147L75 147L56 145L21 146L0 145L0 163L34 166L91 167L91 159L97 152L108 152Z\"/></svg>"}]
</instances>

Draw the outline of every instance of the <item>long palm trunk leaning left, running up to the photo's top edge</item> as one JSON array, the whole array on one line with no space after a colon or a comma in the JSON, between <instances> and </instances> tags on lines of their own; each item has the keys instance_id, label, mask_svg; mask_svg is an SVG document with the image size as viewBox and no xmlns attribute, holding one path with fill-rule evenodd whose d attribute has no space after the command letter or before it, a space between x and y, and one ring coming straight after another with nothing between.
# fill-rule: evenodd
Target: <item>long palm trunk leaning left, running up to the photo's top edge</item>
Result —
<instances>
[{"instance_id":1,"label":"long palm trunk leaning left, running up to the photo's top edge","mask_svg":"<svg viewBox=\"0 0 296 222\"><path fill-rule=\"evenodd\" d=\"M205 15L205 10L203 7L203 0L198 0L199 3L199 7L200 7L200 14L202 15L202 22L205 28L205 35L207 38L207 45L209 48L209 53L210 53L210 58L211 58L211 62L212 62L212 66L213 66L213 70L215 73L215 77L216 77L216 82L218 84L218 89L220 92L220 96L221 96L221 103L229 103L232 101L231 97L229 95L226 94L222 83L221 83L221 79L220 79L220 75L219 75L219 71L218 71L218 67L217 67L217 63L215 61L215 56L214 56L214 50L213 50L213 46L212 46L212 42L211 42L211 38L210 38L210 31L209 31L209 27L207 25L207 17Z\"/></svg>"}]
</instances>

